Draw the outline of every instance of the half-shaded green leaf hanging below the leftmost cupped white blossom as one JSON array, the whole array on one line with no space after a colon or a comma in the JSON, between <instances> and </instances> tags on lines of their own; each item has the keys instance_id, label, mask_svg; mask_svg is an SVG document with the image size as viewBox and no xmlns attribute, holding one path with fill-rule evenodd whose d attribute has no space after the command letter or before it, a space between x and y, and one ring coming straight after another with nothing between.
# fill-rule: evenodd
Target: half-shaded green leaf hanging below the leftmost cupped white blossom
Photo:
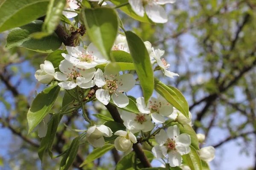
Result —
<instances>
[{"instance_id":1,"label":"half-shaded green leaf hanging below the leftmost cupped white blossom","mask_svg":"<svg viewBox=\"0 0 256 170\"><path fill-rule=\"evenodd\" d=\"M44 91L35 97L27 113L29 133L44 119L44 116L49 113L58 97L60 89L60 86L53 85L44 89Z\"/></svg>"}]
</instances>

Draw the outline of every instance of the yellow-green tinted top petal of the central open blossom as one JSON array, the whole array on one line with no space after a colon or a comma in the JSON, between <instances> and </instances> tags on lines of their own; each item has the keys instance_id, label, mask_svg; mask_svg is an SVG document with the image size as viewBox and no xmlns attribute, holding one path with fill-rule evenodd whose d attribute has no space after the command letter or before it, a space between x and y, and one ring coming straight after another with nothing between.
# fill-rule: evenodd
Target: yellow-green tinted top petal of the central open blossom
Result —
<instances>
[{"instance_id":1,"label":"yellow-green tinted top petal of the central open blossom","mask_svg":"<svg viewBox=\"0 0 256 170\"><path fill-rule=\"evenodd\" d=\"M108 63L105 67L104 75L107 79L119 79L120 66L116 63Z\"/></svg>"}]
</instances>

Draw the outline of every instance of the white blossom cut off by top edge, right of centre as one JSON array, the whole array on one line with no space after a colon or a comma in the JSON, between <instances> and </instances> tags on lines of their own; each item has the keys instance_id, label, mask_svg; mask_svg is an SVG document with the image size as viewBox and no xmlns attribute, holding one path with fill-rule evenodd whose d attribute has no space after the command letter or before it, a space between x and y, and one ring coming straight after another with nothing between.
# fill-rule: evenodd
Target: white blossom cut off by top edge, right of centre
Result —
<instances>
[{"instance_id":1,"label":"white blossom cut off by top edge, right of centre","mask_svg":"<svg viewBox=\"0 0 256 170\"><path fill-rule=\"evenodd\" d=\"M166 23L167 14L161 5L175 3L176 0L128 0L133 11L140 17L144 12L154 23Z\"/></svg>"}]
</instances>

